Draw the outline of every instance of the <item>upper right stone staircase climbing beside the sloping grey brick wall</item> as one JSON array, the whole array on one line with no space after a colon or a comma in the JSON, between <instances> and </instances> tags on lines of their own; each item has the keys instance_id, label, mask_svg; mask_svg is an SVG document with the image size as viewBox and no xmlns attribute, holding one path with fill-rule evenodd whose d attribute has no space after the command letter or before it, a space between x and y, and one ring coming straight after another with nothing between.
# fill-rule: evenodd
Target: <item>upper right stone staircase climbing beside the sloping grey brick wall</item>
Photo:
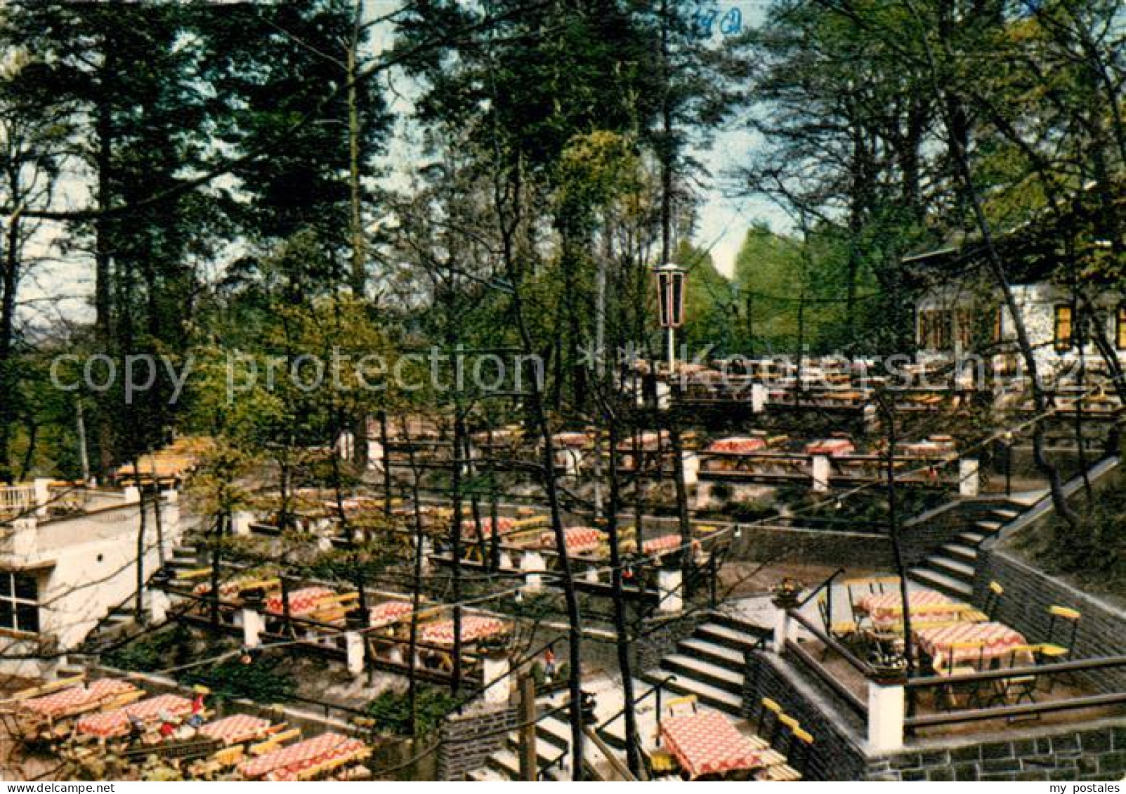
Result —
<instances>
[{"instance_id":1,"label":"upper right stone staircase climbing beside the sloping grey brick wall","mask_svg":"<svg viewBox=\"0 0 1126 794\"><path fill-rule=\"evenodd\" d=\"M1028 508L1029 505L1010 499L974 499L959 505L955 509L957 520L963 522L963 531L911 568L908 576L923 587L958 601L969 601L981 544Z\"/></svg>"}]
</instances>

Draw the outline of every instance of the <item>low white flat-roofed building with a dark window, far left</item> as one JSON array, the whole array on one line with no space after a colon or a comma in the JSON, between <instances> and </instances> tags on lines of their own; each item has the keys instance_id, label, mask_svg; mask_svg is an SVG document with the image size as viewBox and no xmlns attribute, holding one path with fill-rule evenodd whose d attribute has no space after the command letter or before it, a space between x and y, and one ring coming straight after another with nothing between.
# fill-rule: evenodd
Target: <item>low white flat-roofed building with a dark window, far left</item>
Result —
<instances>
[{"instance_id":1,"label":"low white flat-roofed building with a dark window, far left","mask_svg":"<svg viewBox=\"0 0 1126 794\"><path fill-rule=\"evenodd\" d=\"M69 488L69 487L68 487ZM136 593L140 491L0 488L0 673L48 675L114 607ZM177 493L145 505L143 572L170 559L180 539Z\"/></svg>"}]
</instances>

